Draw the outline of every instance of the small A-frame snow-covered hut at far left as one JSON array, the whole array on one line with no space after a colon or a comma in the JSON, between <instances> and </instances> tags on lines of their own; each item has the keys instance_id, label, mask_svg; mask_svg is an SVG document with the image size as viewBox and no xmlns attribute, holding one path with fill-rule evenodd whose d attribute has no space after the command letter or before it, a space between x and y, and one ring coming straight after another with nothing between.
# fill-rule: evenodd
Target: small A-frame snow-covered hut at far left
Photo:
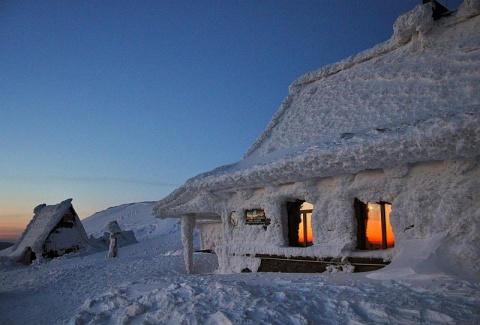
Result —
<instances>
[{"instance_id":1,"label":"small A-frame snow-covered hut at far left","mask_svg":"<svg viewBox=\"0 0 480 325\"><path fill-rule=\"evenodd\" d=\"M37 258L53 258L89 246L72 199L56 205L41 204L12 249L10 257L24 264Z\"/></svg>"}]
</instances>

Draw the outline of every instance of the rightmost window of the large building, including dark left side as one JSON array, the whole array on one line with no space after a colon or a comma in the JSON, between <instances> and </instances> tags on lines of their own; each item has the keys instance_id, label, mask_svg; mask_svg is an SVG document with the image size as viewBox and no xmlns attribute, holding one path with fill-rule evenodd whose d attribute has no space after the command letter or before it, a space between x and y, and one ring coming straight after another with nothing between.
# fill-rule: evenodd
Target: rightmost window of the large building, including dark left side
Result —
<instances>
[{"instance_id":1,"label":"rightmost window of the large building, including dark left side","mask_svg":"<svg viewBox=\"0 0 480 325\"><path fill-rule=\"evenodd\" d=\"M357 217L357 248L362 250L387 249L395 245L387 202L367 204L355 199Z\"/></svg>"}]
</instances>

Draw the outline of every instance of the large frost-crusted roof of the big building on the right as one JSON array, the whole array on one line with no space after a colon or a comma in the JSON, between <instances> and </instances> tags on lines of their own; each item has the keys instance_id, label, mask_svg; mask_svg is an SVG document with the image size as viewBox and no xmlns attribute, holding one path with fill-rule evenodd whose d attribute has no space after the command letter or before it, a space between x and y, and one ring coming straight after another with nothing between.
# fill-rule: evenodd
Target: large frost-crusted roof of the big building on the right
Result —
<instances>
[{"instance_id":1,"label":"large frost-crusted roof of the big building on the right","mask_svg":"<svg viewBox=\"0 0 480 325\"><path fill-rule=\"evenodd\" d=\"M431 16L418 5L388 41L295 80L242 160L188 180L154 213L188 212L205 191L479 155L480 1Z\"/></svg>"}]
</instances>

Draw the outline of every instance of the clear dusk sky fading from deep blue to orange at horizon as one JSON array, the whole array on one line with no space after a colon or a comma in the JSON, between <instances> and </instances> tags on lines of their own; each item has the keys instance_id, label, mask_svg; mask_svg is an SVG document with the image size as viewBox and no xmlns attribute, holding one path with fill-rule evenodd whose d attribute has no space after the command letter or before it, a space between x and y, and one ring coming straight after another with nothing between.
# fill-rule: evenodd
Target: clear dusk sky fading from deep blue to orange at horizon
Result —
<instances>
[{"instance_id":1,"label":"clear dusk sky fading from deep blue to orange at horizon","mask_svg":"<svg viewBox=\"0 0 480 325\"><path fill-rule=\"evenodd\" d=\"M421 2L0 1L0 240L41 203L85 218L238 161L293 80Z\"/></svg>"}]
</instances>

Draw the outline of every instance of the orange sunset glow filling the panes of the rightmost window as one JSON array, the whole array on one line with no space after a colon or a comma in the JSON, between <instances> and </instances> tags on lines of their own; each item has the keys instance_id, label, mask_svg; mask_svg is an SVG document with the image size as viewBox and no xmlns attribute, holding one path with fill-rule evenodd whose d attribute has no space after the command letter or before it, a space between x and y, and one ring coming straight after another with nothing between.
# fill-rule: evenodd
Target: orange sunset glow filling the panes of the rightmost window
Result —
<instances>
[{"instance_id":1,"label":"orange sunset glow filling the panes of the rightmost window","mask_svg":"<svg viewBox=\"0 0 480 325\"><path fill-rule=\"evenodd\" d=\"M395 237L393 235L392 226L390 225L391 211L391 205L385 204L387 247L393 247L395 244ZM367 245L368 244L382 245L382 221L379 204L368 203Z\"/></svg>"}]
</instances>

